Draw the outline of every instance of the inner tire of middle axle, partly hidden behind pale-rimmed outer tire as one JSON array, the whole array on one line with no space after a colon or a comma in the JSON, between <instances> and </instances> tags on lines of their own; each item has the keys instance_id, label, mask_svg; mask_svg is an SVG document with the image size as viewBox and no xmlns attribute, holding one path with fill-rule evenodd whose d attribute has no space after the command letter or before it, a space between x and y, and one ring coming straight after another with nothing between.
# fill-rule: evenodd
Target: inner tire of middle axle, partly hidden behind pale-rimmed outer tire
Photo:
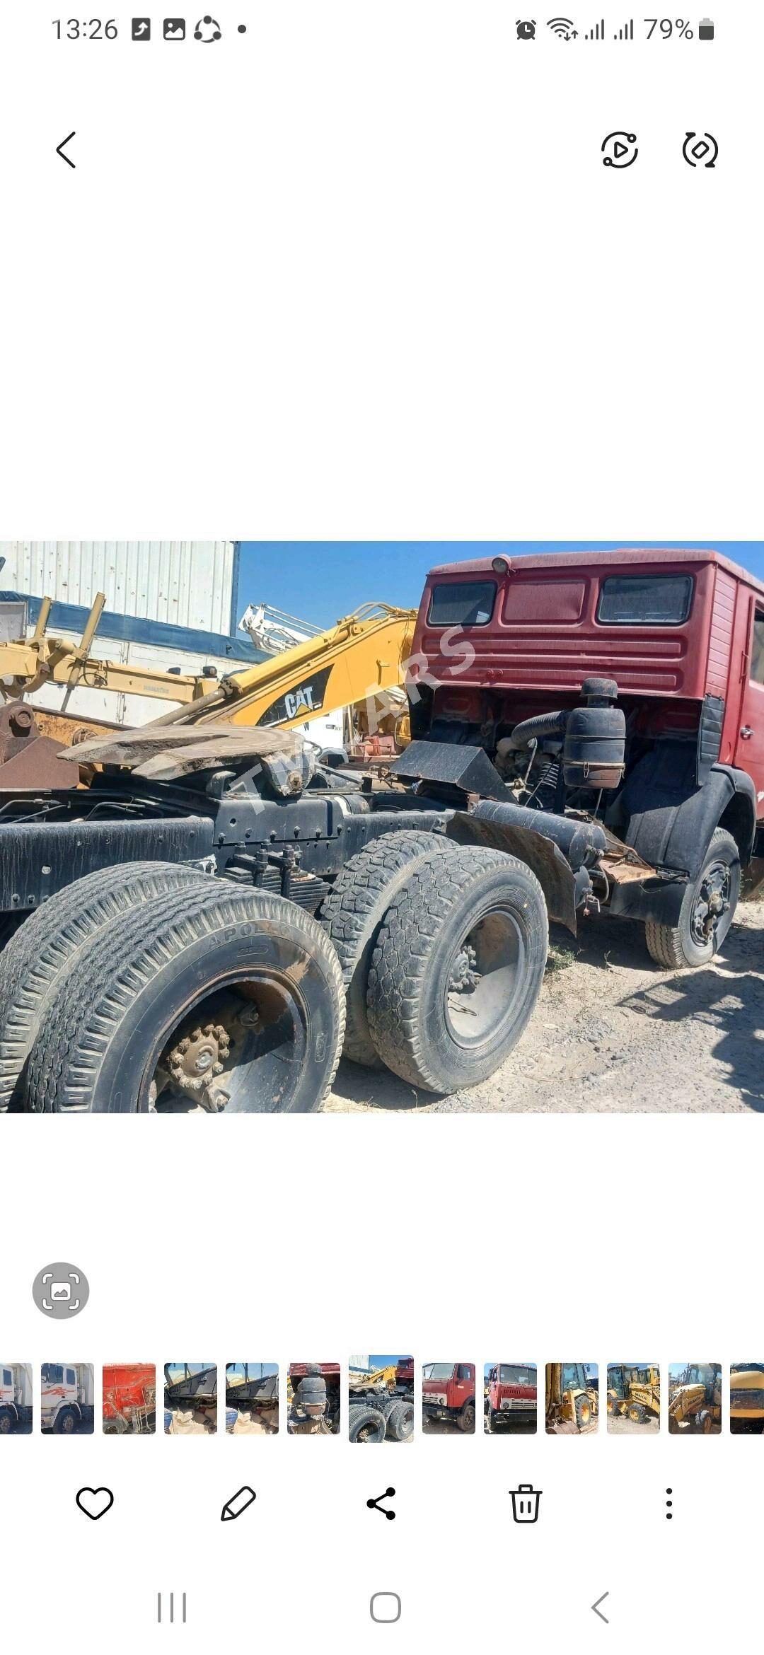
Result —
<instances>
[{"instance_id":1,"label":"inner tire of middle axle, partly hidden behind pale-rimmed outer tire","mask_svg":"<svg viewBox=\"0 0 764 1655\"><path fill-rule=\"evenodd\" d=\"M382 1067L365 1013L365 986L379 928L413 871L443 851L448 851L448 839L442 834L415 829L380 834L346 862L321 905L319 919L337 950L346 983L342 1056L367 1069Z\"/></svg>"}]
</instances>

